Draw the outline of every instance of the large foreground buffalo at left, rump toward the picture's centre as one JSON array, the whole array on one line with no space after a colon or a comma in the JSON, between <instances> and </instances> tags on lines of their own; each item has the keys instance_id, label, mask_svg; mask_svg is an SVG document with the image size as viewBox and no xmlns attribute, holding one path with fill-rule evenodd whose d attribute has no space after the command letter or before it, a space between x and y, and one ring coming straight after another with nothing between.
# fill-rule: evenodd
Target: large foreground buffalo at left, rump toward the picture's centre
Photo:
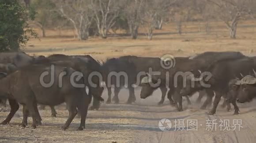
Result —
<instances>
[{"instance_id":1,"label":"large foreground buffalo at left, rump toward the picture's centre","mask_svg":"<svg viewBox=\"0 0 256 143\"><path fill-rule=\"evenodd\" d=\"M8 124L19 109L19 104L23 104L22 126L27 125L27 116L30 112L33 118L32 127L36 128L37 122L41 123L37 104L55 106L65 102L69 116L62 129L68 128L79 109L81 122L78 129L83 130L91 97L87 95L85 88L77 88L71 84L71 80L75 81L75 79L71 79L71 75L75 72L72 68L55 66L53 75L45 76L42 79L45 83L50 83L53 79L53 84L48 87L43 86L40 76L43 72L51 73L52 71L50 66L30 65L0 80L0 94L6 95L11 106L10 114L1 124ZM59 83L60 75L62 75L62 86ZM84 82L79 80L79 83Z\"/></svg>"}]
</instances>

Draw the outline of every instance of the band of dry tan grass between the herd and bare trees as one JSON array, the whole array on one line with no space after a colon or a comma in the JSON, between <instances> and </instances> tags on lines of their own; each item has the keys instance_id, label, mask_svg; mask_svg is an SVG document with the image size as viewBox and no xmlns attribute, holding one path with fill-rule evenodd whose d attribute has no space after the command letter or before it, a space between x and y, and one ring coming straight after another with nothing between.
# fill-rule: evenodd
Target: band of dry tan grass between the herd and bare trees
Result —
<instances>
[{"instance_id":1,"label":"band of dry tan grass between the herd and bare trees","mask_svg":"<svg viewBox=\"0 0 256 143\"><path fill-rule=\"evenodd\" d=\"M230 39L229 32L221 22L211 24L211 32L206 34L201 28L203 23L185 23L183 34L176 34L175 25L164 25L162 30L155 30L153 40L146 36L132 40L130 37L109 37L100 39L92 37L87 41L77 41L73 32L64 31L63 37L49 31L49 38L32 39L26 46L25 52L35 55L61 54L90 54L97 59L118 57L122 55L137 55L159 57L163 54L188 56L204 51L241 51L244 54L256 52L256 23L241 22L237 29L237 39ZM143 29L142 29L143 30ZM67 35L69 34L69 36Z\"/></svg>"}]
</instances>

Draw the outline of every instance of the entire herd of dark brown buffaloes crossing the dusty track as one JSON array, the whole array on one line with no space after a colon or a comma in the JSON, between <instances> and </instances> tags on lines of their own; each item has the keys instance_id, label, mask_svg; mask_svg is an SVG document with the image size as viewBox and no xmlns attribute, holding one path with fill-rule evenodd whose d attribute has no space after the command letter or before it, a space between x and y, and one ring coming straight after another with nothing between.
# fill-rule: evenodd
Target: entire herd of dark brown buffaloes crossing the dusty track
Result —
<instances>
[{"instance_id":1,"label":"entire herd of dark brown buffaloes crossing the dusty track","mask_svg":"<svg viewBox=\"0 0 256 143\"><path fill-rule=\"evenodd\" d=\"M81 122L78 130L85 128L85 120L87 111L98 110L102 99L104 87L102 82L110 83L106 85L108 90L107 104L113 100L114 103L119 103L118 94L121 88L129 89L129 97L127 104L136 102L135 86L139 80L141 86L140 97L145 99L152 95L154 90L161 89L162 98L158 104L163 104L166 93L171 106L176 106L178 111L182 111L182 97L186 97L188 104L191 104L189 97L194 93L199 92L197 103L200 103L203 96L207 99L201 106L205 109L212 104L213 107L208 114L215 114L216 108L221 97L225 98L223 106L227 105L227 110L230 110L230 104L234 106L234 114L239 114L237 102L250 102L256 97L256 57L247 57L240 52L204 52L193 57L175 57L175 66L173 68L163 68L161 66L161 58L158 57L137 57L123 56L118 58L107 59L101 63L89 55L64 55L53 54L45 56L30 56L24 52L0 53L0 100L2 104L8 100L10 105L10 113L7 118L0 124L6 125L11 121L19 105L23 106L23 121L21 125L26 127L27 118L32 117L32 128L41 125L41 116L38 111L38 104L41 108L49 105L52 110L52 116L56 117L54 106L66 103L69 112L68 119L62 129L67 129L76 114L79 114ZM39 82L41 73L51 71L51 65L55 66L54 75L60 75L61 72L66 72L62 78L63 86L58 86L58 82L54 82L50 87L44 87ZM149 68L153 71L158 71L160 75L154 75L149 72ZM70 83L73 72L83 73L83 78L76 81L83 83L86 88L74 87ZM192 76L186 75L177 78L177 85L174 86L175 74L177 72L190 72L199 80L194 81L192 86ZM88 79L92 72L99 72L102 75L102 80L99 77L93 76L91 81L96 86L91 86ZM128 75L126 83L124 77L117 80L116 77L108 78L111 72L125 72ZM144 75L137 79L139 72L145 72ZM166 72L169 73L166 79ZM203 72L210 72L211 78L207 79L201 76ZM49 82L51 77L46 76L45 81ZM58 81L58 76L54 76L54 81ZM151 83L157 83L157 86L151 86ZM110 82L108 80L111 80ZM185 86L184 86L184 80ZM205 87L201 82L211 85ZM119 82L119 83L117 83ZM168 86L166 86L168 82ZM127 85L128 84L128 85ZM118 86L117 86L118 85ZM114 88L114 97L111 98ZM169 90L168 90L169 89ZM92 106L89 104L92 101Z\"/></svg>"}]
</instances>

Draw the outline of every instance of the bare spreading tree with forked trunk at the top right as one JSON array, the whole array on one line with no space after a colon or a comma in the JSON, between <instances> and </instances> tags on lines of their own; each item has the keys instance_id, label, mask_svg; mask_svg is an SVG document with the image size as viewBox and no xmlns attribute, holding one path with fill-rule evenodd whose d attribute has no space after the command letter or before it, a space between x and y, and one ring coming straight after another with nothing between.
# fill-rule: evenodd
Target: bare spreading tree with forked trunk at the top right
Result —
<instances>
[{"instance_id":1,"label":"bare spreading tree with forked trunk at the top right","mask_svg":"<svg viewBox=\"0 0 256 143\"><path fill-rule=\"evenodd\" d=\"M235 39L237 24L248 15L252 15L251 6L254 0L207 0L214 8L214 15L225 22L230 31L230 38Z\"/></svg>"}]
</instances>

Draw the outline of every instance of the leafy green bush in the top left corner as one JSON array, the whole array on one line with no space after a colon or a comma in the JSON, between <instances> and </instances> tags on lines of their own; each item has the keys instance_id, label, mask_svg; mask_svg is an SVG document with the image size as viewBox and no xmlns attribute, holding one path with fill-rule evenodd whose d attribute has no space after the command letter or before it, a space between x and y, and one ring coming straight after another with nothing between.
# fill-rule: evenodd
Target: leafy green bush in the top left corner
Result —
<instances>
[{"instance_id":1,"label":"leafy green bush in the top left corner","mask_svg":"<svg viewBox=\"0 0 256 143\"><path fill-rule=\"evenodd\" d=\"M0 0L0 52L19 50L29 35L36 36L27 23L34 20L35 14L34 10L20 5L18 0Z\"/></svg>"}]
</instances>

